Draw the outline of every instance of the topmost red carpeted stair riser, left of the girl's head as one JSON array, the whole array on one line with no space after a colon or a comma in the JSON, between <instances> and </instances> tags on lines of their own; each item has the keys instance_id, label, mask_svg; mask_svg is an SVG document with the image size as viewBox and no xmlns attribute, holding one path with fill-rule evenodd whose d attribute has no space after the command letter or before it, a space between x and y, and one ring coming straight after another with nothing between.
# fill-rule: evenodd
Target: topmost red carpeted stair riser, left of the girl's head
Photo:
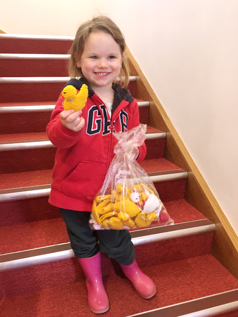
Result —
<instances>
[{"instance_id":1,"label":"topmost red carpeted stair riser, left of the girl's head","mask_svg":"<svg viewBox=\"0 0 238 317\"><path fill-rule=\"evenodd\" d=\"M72 41L0 38L0 53L8 54L68 54Z\"/></svg>"}]
</instances>

